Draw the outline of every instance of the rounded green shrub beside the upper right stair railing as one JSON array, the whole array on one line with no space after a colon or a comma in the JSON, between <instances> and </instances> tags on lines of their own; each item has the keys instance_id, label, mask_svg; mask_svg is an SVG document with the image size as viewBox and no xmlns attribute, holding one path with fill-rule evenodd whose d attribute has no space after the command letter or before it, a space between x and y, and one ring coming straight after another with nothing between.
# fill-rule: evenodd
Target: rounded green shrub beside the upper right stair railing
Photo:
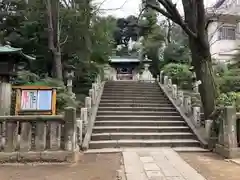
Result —
<instances>
[{"instance_id":1,"label":"rounded green shrub beside the upper right stair railing","mask_svg":"<svg viewBox=\"0 0 240 180\"><path fill-rule=\"evenodd\" d=\"M170 63L163 67L164 74L171 77L174 84L183 89L191 89L192 73L185 64Z\"/></svg>"}]
</instances>

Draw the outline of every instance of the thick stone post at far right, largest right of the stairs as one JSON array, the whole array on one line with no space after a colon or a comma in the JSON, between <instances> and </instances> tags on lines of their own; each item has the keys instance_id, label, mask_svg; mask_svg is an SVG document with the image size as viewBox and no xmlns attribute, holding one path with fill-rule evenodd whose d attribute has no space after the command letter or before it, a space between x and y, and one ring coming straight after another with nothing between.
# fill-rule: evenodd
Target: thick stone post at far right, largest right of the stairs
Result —
<instances>
[{"instance_id":1,"label":"thick stone post at far right, largest right of the stairs","mask_svg":"<svg viewBox=\"0 0 240 180\"><path fill-rule=\"evenodd\" d=\"M219 144L216 145L216 152L227 158L236 158L238 153L237 145L237 116L236 108L225 107L220 119Z\"/></svg>"}]
</instances>

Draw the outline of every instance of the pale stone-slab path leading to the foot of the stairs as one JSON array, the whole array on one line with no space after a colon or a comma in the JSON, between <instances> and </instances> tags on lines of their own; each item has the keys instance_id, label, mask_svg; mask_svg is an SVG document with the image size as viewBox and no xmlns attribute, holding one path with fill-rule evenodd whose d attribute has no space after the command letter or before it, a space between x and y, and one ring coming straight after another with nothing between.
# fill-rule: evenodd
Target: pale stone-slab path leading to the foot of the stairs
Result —
<instances>
[{"instance_id":1,"label":"pale stone-slab path leading to the foot of the stairs","mask_svg":"<svg viewBox=\"0 0 240 180\"><path fill-rule=\"evenodd\" d=\"M206 180L173 149L125 149L127 180Z\"/></svg>"}]
</instances>

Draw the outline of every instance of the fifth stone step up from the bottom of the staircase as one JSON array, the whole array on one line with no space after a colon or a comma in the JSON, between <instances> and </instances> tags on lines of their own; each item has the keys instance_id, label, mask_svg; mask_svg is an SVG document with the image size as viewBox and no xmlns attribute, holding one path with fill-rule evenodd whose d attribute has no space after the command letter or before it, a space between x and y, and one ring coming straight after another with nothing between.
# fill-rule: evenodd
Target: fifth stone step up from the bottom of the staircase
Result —
<instances>
[{"instance_id":1,"label":"fifth stone step up from the bottom of the staircase","mask_svg":"<svg viewBox=\"0 0 240 180\"><path fill-rule=\"evenodd\" d=\"M130 120L182 120L182 117L180 115L176 116L133 116L133 115L97 115L96 121L107 121L107 120L119 120L119 121L130 121Z\"/></svg>"}]
</instances>

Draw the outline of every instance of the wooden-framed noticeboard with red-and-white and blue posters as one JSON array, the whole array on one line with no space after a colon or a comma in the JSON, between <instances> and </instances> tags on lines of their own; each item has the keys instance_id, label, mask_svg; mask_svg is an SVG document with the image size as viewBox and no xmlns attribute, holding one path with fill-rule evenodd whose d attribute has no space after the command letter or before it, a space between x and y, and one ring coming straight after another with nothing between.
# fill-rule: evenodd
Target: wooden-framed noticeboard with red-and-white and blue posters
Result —
<instances>
[{"instance_id":1,"label":"wooden-framed noticeboard with red-and-white and blue posters","mask_svg":"<svg viewBox=\"0 0 240 180\"><path fill-rule=\"evenodd\" d=\"M56 114L56 89L46 86L15 86L15 115Z\"/></svg>"}]
</instances>

